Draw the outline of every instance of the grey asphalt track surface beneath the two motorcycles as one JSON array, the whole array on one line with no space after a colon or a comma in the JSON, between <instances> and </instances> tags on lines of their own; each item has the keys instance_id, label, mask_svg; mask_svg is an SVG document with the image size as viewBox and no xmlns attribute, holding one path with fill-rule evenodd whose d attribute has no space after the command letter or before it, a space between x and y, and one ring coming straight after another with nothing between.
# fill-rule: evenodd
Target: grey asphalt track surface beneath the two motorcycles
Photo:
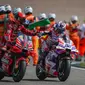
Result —
<instances>
[{"instance_id":1,"label":"grey asphalt track surface beneath the two motorcycles","mask_svg":"<svg viewBox=\"0 0 85 85\"><path fill-rule=\"evenodd\" d=\"M46 78L40 81L35 74L35 67L28 66L25 77L21 82L14 82L11 77L5 77L0 85L85 85L85 70L72 68L67 81L60 82L58 78Z\"/></svg>"}]
</instances>

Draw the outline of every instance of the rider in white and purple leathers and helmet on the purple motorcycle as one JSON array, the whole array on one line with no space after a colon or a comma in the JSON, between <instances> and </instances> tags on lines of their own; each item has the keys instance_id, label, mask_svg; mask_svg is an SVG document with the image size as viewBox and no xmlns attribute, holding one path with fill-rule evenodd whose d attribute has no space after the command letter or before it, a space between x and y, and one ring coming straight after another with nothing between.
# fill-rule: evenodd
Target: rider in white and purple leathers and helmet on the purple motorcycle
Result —
<instances>
[{"instance_id":1,"label":"rider in white and purple leathers and helmet on the purple motorcycle","mask_svg":"<svg viewBox=\"0 0 85 85\"><path fill-rule=\"evenodd\" d=\"M58 39L61 37L66 42L66 33L65 28L66 24L63 21L56 23L53 27L54 29L49 32L44 32L42 35L48 35L46 41L44 41L43 49L43 58L42 58L42 66L45 65L45 57L51 51L55 51L56 45L58 45Z\"/></svg>"}]
</instances>

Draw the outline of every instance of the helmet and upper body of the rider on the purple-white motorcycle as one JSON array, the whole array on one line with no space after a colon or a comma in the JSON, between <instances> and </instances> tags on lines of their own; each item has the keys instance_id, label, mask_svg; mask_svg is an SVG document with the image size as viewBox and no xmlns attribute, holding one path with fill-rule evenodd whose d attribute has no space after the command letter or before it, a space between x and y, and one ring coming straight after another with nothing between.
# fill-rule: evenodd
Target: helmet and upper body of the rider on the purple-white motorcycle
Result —
<instances>
[{"instance_id":1,"label":"helmet and upper body of the rider on the purple-white motorcycle","mask_svg":"<svg viewBox=\"0 0 85 85\"><path fill-rule=\"evenodd\" d=\"M63 21L59 21L58 23L56 23L53 27L54 29L49 31L49 32L45 32L44 34L48 34L48 38L46 40L46 43L48 44L49 49L51 49L52 47L52 43L53 44L57 44L58 43L58 38L62 37L65 42L66 42L66 33L65 33L65 28L66 28L66 24Z\"/></svg>"}]
</instances>

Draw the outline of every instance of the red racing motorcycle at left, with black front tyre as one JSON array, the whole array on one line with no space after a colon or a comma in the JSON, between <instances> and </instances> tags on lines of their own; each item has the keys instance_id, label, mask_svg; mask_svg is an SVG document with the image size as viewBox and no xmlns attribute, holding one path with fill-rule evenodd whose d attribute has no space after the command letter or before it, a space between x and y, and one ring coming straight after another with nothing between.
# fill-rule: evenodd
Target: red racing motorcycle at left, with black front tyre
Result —
<instances>
[{"instance_id":1,"label":"red racing motorcycle at left, with black front tyre","mask_svg":"<svg viewBox=\"0 0 85 85\"><path fill-rule=\"evenodd\" d=\"M23 35L19 35L17 38L17 42L15 44L15 50L11 51L3 51L0 52L1 62L0 62L0 80L5 76L13 77L15 82L19 82L25 75L27 62L26 58L28 57L26 54L28 49L24 47L26 44L23 41ZM18 49L18 44L23 46L22 49ZM12 45L13 46L13 45ZM16 53L16 50L18 53Z\"/></svg>"}]
</instances>

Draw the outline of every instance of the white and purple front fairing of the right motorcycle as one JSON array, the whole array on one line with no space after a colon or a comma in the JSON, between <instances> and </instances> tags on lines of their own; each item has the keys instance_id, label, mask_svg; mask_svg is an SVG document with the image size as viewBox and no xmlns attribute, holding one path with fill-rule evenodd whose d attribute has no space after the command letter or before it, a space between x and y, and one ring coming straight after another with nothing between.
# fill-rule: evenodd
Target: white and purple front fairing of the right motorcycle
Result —
<instances>
[{"instance_id":1,"label":"white and purple front fairing of the right motorcycle","mask_svg":"<svg viewBox=\"0 0 85 85\"><path fill-rule=\"evenodd\" d=\"M65 42L62 38L59 38L59 44L56 46L56 52L58 54L66 52L66 49L71 50L71 53L78 53L78 50L76 49L73 42L67 38L67 41Z\"/></svg>"}]
</instances>

